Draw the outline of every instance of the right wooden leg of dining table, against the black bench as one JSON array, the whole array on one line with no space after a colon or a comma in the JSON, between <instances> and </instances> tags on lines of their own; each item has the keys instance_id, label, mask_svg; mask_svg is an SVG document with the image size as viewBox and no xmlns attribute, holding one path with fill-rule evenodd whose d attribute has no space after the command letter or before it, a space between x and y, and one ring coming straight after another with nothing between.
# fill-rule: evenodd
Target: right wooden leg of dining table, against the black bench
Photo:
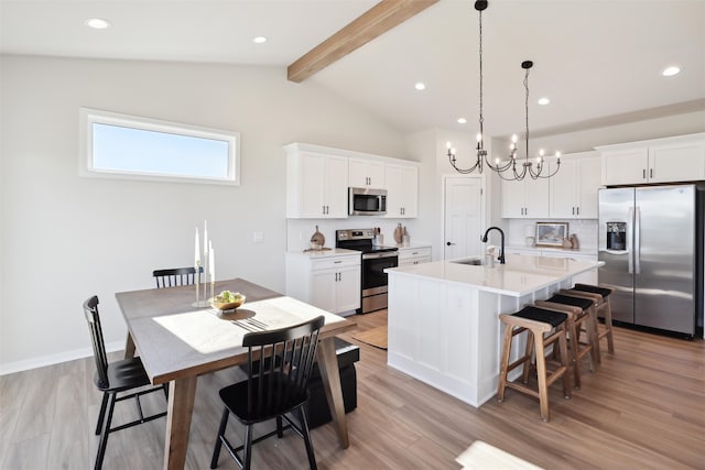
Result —
<instances>
[{"instance_id":1,"label":"right wooden leg of dining table, against the black bench","mask_svg":"<svg viewBox=\"0 0 705 470\"><path fill-rule=\"evenodd\" d=\"M324 338L318 345L318 369L323 389L326 392L328 409L333 417L333 424L338 433L340 446L346 449L348 440L348 425L345 418L345 405L343 403L343 389L340 387L340 372L338 371L338 358L335 352L334 337Z\"/></svg>"}]
</instances>

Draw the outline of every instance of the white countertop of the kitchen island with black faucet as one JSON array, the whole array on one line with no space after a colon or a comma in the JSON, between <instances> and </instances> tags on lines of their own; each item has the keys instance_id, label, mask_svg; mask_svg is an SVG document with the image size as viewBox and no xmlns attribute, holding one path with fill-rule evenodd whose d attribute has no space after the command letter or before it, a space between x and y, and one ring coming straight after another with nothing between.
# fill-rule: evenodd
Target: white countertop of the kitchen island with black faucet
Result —
<instances>
[{"instance_id":1,"label":"white countertop of the kitchen island with black faucet","mask_svg":"<svg viewBox=\"0 0 705 470\"><path fill-rule=\"evenodd\" d=\"M480 291L520 297L599 266L598 261L507 254L507 264L495 267L435 261L384 270L390 276L406 275L467 284Z\"/></svg>"}]
</instances>

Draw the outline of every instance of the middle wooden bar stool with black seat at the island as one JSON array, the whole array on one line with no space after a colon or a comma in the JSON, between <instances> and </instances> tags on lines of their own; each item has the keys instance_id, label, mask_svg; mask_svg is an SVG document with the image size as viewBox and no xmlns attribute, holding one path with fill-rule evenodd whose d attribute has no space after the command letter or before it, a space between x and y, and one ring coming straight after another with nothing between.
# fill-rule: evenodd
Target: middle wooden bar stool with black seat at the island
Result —
<instances>
[{"instance_id":1,"label":"middle wooden bar stool with black seat at the island","mask_svg":"<svg viewBox=\"0 0 705 470\"><path fill-rule=\"evenodd\" d=\"M595 372L597 363L597 314L595 303L590 298L576 297L563 294L554 294L546 300L538 300L536 307L553 308L567 314L568 346L571 348L571 362L573 364L574 386L579 389L581 383L581 360L587 356L589 371ZM581 340L585 331L585 341Z\"/></svg>"}]
</instances>

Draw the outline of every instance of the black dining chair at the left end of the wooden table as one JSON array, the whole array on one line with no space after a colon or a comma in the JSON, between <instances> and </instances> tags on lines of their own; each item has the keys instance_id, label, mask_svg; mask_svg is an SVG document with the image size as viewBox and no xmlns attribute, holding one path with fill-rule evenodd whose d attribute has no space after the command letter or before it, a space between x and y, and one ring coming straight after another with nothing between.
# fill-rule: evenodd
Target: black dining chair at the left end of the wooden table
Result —
<instances>
[{"instance_id":1,"label":"black dining chair at the left end of the wooden table","mask_svg":"<svg viewBox=\"0 0 705 470\"><path fill-rule=\"evenodd\" d=\"M86 315L86 320L88 321L88 329L93 341L93 352L96 360L96 374L94 376L94 382L96 387L102 392L102 402L100 404L100 413L98 414L98 424L96 425L96 435L100 435L100 444L98 445L98 455L96 456L95 464L95 469L98 470L102 467L102 460L106 455L106 446L108 445L108 436L110 433L166 416L166 412L163 412L145 417L142 413L142 405L140 403L140 396L148 393L163 391L164 395L166 395L166 385L154 386L132 392L128 395L118 396L119 393L130 392L132 390L150 385L150 379L147 375L147 372L142 367L142 361L139 358L108 362L105 341L102 338L102 328L100 327L97 296L94 295L84 302L84 313ZM130 398L134 398L140 418L120 426L110 427L112 424L115 404Z\"/></svg>"}]
</instances>

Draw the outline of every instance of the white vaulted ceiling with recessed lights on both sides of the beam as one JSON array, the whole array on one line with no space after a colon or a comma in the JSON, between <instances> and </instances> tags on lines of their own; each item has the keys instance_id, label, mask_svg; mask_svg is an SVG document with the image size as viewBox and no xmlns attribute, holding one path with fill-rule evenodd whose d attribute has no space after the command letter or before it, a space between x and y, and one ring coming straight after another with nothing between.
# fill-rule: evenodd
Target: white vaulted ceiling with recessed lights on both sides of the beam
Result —
<instances>
[{"instance_id":1,"label":"white vaulted ceiling with recessed lights on both sides of the beam","mask_svg":"<svg viewBox=\"0 0 705 470\"><path fill-rule=\"evenodd\" d=\"M285 67L376 0L0 0L0 52ZM94 31L87 18L112 25ZM485 130L533 135L705 109L705 0L490 0ZM263 35L265 44L252 43ZM477 132L478 14L441 0L308 78L402 132ZM682 73L665 78L676 64ZM424 81L424 91L414 90ZM546 96L549 106L535 100ZM468 123L458 124L465 117Z\"/></svg>"}]
</instances>

